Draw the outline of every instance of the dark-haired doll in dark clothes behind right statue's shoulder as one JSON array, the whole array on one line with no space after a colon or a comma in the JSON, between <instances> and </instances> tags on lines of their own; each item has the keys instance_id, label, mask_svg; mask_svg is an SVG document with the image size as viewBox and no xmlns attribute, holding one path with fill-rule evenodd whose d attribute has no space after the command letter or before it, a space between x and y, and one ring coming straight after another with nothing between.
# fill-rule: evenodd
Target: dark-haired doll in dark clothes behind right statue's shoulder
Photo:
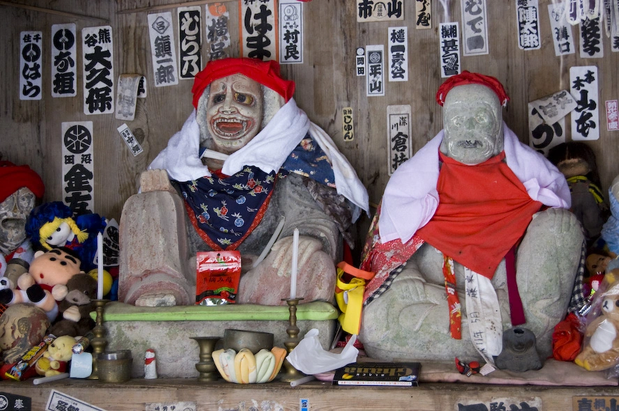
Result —
<instances>
[{"instance_id":1,"label":"dark-haired doll in dark clothes behind right statue's shoulder","mask_svg":"<svg viewBox=\"0 0 619 411\"><path fill-rule=\"evenodd\" d=\"M608 206L599 189L595 154L581 141L569 141L554 146L548 153L548 160L563 173L572 194L572 212L583 224L585 236L590 244L599 237L606 221Z\"/></svg>"}]
</instances>

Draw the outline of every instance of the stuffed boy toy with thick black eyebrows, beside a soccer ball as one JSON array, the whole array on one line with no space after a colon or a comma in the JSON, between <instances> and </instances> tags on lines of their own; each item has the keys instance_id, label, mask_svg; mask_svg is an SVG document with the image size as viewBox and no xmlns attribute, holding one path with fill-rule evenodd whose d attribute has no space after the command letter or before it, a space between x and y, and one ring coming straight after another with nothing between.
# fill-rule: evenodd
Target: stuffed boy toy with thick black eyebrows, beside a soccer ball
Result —
<instances>
[{"instance_id":1,"label":"stuffed boy toy with thick black eyebrows, beside a soccer ball","mask_svg":"<svg viewBox=\"0 0 619 411\"><path fill-rule=\"evenodd\" d=\"M17 279L17 289L0 290L0 304L32 302L53 322L58 315L57 301L66 297L67 281L80 273L80 259L70 249L36 251L29 272Z\"/></svg>"}]
</instances>

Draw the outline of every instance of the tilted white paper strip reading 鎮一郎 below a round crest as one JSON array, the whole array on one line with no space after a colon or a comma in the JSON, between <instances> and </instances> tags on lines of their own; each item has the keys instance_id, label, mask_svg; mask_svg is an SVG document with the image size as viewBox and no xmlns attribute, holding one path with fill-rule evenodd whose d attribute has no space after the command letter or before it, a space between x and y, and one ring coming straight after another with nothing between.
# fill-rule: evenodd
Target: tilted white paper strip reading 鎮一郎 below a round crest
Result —
<instances>
[{"instance_id":1,"label":"tilted white paper strip reading \u93ae\u4e00\u90ce below a round crest","mask_svg":"<svg viewBox=\"0 0 619 411\"><path fill-rule=\"evenodd\" d=\"M179 84L177 53L174 49L172 13L148 15L151 57L156 87Z\"/></svg>"}]
</instances>

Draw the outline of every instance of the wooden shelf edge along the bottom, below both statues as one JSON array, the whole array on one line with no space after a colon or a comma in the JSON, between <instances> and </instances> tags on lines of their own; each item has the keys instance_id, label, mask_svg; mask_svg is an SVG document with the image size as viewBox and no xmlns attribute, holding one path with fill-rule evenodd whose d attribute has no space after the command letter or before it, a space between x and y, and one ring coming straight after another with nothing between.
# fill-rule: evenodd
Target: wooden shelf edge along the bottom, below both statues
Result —
<instances>
[{"instance_id":1,"label":"wooden shelf edge along the bottom, below both statues","mask_svg":"<svg viewBox=\"0 0 619 411\"><path fill-rule=\"evenodd\" d=\"M197 382L193 378L144 380L132 379L122 384L98 380L67 379L33 385L24 382L0 382L0 394L16 394L31 398L32 410L45 410L52 390L77 398L107 411L155 410L154 405L190 402L195 410L301 410L301 400L308 401L307 410L483 410L472 404L503 403L525 409L525 402L538 410L579 410L583 397L594 400L619 398L618 387L549 387L532 385L481 385L427 383L419 387L334 387L329 382L312 381L298 387L284 382L235 385L228 382ZM460 406L458 406L460 404ZM161 411L163 407L159 408ZM587 409L587 408L582 408ZM176 411L182 411L178 407Z\"/></svg>"}]
</instances>

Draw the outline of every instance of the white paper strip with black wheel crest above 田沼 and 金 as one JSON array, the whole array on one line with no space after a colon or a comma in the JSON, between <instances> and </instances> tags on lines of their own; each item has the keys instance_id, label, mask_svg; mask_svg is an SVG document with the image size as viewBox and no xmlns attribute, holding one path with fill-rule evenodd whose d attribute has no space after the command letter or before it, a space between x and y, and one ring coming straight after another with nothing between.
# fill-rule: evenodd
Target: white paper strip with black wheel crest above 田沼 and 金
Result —
<instances>
[{"instance_id":1,"label":"white paper strip with black wheel crest above \u7530\u6cbc and \u91d1","mask_svg":"<svg viewBox=\"0 0 619 411\"><path fill-rule=\"evenodd\" d=\"M75 214L94 210L92 121L62 123L62 201Z\"/></svg>"}]
</instances>

